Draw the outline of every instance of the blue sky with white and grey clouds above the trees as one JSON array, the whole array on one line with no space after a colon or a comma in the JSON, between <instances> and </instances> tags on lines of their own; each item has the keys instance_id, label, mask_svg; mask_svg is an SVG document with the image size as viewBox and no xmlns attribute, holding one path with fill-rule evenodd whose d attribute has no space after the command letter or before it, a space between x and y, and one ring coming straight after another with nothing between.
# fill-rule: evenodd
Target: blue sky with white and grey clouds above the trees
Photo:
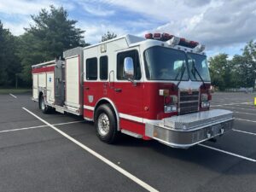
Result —
<instances>
[{"instance_id":1,"label":"blue sky with white and grey clouds above the trees","mask_svg":"<svg viewBox=\"0 0 256 192\"><path fill-rule=\"evenodd\" d=\"M106 32L118 36L168 32L205 44L207 55L241 54L256 39L256 1L252 0L0 0L4 28L20 35L32 25L31 15L49 5L63 6L78 20L86 43L96 44Z\"/></svg>"}]
</instances>

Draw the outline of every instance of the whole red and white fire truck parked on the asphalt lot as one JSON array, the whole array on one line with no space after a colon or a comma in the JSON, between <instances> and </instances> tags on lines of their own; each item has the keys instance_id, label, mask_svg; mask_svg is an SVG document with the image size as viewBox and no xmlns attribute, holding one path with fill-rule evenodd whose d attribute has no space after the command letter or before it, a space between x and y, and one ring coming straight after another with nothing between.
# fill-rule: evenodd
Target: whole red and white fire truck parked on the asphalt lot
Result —
<instances>
[{"instance_id":1,"label":"whole red and white fire truck parked on the asphalt lot","mask_svg":"<svg viewBox=\"0 0 256 192\"><path fill-rule=\"evenodd\" d=\"M32 66L32 100L94 121L96 135L119 134L189 148L230 131L233 113L210 110L205 46L168 33L125 35L63 52Z\"/></svg>"}]
</instances>

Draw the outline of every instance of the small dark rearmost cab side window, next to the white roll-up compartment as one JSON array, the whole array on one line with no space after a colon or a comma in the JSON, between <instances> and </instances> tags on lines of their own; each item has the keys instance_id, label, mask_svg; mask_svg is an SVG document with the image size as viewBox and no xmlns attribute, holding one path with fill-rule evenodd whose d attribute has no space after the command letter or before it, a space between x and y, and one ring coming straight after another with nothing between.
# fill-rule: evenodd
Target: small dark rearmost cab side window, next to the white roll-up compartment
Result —
<instances>
[{"instance_id":1,"label":"small dark rearmost cab side window, next to the white roll-up compartment","mask_svg":"<svg viewBox=\"0 0 256 192\"><path fill-rule=\"evenodd\" d=\"M96 80L98 72L97 67L97 58L90 58L86 60L86 79L87 80Z\"/></svg>"}]
</instances>

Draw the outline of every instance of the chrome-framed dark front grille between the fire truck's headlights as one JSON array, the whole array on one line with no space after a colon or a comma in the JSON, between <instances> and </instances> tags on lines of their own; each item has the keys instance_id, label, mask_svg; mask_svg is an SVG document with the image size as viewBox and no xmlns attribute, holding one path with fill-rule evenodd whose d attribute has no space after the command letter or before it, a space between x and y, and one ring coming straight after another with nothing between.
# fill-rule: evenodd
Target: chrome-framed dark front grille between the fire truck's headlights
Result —
<instances>
[{"instance_id":1,"label":"chrome-framed dark front grille between the fire truck's headlights","mask_svg":"<svg viewBox=\"0 0 256 192\"><path fill-rule=\"evenodd\" d=\"M198 112L199 91L180 91L179 93L179 114Z\"/></svg>"}]
</instances>

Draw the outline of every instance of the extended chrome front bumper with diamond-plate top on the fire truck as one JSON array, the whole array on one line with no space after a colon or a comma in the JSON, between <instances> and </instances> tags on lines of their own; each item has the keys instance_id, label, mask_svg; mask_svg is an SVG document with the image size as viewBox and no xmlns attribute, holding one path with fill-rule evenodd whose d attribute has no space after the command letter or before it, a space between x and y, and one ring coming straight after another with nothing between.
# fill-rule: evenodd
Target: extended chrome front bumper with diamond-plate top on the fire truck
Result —
<instances>
[{"instance_id":1,"label":"extended chrome front bumper with diamond-plate top on the fire truck","mask_svg":"<svg viewBox=\"0 0 256 192\"><path fill-rule=\"evenodd\" d=\"M173 148L189 148L232 129L233 113L214 109L146 123L145 134Z\"/></svg>"}]
</instances>

